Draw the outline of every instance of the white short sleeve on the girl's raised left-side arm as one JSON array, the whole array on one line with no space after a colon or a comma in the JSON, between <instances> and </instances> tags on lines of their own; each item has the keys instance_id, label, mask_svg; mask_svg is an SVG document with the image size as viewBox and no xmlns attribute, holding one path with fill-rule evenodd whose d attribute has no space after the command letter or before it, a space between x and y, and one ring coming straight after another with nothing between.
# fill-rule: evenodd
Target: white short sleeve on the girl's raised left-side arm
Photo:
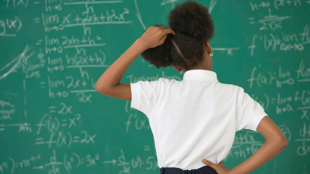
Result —
<instances>
[{"instance_id":1,"label":"white short sleeve on the girl's raised left-side arm","mask_svg":"<svg viewBox=\"0 0 310 174\"><path fill-rule=\"evenodd\" d=\"M161 80L138 81L130 83L131 108L138 109L149 116L158 103L161 93Z\"/></svg>"}]
</instances>

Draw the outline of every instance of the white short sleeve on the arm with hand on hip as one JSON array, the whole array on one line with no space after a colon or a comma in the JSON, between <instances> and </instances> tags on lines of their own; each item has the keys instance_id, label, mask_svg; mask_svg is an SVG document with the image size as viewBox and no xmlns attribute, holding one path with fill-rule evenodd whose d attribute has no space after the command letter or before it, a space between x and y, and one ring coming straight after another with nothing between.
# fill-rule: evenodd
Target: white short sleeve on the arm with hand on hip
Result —
<instances>
[{"instance_id":1,"label":"white short sleeve on the arm with hand on hip","mask_svg":"<svg viewBox=\"0 0 310 174\"><path fill-rule=\"evenodd\" d=\"M263 117L268 116L264 108L241 88L237 112L237 130L250 129L257 132L257 126Z\"/></svg>"}]
</instances>

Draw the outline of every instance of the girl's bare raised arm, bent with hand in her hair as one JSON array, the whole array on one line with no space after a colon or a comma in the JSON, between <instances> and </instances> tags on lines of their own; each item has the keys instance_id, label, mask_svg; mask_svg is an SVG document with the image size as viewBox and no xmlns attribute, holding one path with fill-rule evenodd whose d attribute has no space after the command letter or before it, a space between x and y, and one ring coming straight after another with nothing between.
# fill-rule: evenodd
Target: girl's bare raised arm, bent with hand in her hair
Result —
<instances>
[{"instance_id":1,"label":"girl's bare raised arm, bent with hand in her hair","mask_svg":"<svg viewBox=\"0 0 310 174\"><path fill-rule=\"evenodd\" d=\"M162 45L167 34L175 31L166 27L149 27L135 42L100 76L95 83L96 91L111 97L131 101L130 83L119 83L131 63L144 50Z\"/></svg>"}]
</instances>

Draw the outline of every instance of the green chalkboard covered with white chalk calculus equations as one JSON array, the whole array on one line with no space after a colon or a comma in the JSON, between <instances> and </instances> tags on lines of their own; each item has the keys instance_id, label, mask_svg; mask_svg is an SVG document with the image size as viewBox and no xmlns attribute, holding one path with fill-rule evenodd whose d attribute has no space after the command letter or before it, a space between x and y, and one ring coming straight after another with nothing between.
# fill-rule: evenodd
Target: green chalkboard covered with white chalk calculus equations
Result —
<instances>
[{"instance_id":1,"label":"green chalkboard covered with white chalk calculus equations","mask_svg":"<svg viewBox=\"0 0 310 174\"><path fill-rule=\"evenodd\" d=\"M94 84L181 0L0 1L0 173L159 173L148 118ZM288 146L252 173L310 172L310 2L197 1L210 9L219 82L241 86ZM182 80L141 56L121 83ZM264 138L236 132L232 168Z\"/></svg>"}]
</instances>

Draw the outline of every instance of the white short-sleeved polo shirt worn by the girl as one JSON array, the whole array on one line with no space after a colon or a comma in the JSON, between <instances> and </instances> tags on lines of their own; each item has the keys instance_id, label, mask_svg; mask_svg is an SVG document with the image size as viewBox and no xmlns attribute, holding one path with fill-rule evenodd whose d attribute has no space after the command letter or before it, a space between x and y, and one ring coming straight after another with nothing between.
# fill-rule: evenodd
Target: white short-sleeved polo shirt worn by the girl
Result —
<instances>
[{"instance_id":1,"label":"white short-sleeved polo shirt worn by the girl","mask_svg":"<svg viewBox=\"0 0 310 174\"><path fill-rule=\"evenodd\" d=\"M159 78L131 85L131 108L149 119L158 167L218 164L241 129L257 131L263 107L242 87L220 83L210 70L188 70L182 81Z\"/></svg>"}]
</instances>

